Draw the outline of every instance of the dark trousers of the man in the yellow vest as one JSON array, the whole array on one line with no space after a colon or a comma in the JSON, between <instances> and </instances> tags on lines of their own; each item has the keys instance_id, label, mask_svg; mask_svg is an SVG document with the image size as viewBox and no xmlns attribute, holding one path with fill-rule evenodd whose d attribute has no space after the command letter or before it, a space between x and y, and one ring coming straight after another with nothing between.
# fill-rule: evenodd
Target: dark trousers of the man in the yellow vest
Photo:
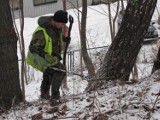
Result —
<instances>
[{"instance_id":1,"label":"dark trousers of the man in the yellow vest","mask_svg":"<svg viewBox=\"0 0 160 120\"><path fill-rule=\"evenodd\" d=\"M56 65L54 67L65 70L65 67L62 64ZM51 87L51 99L59 99L59 88L65 76L65 72L47 68L43 73L43 80L41 83L41 97L43 98L45 95L49 96Z\"/></svg>"}]
</instances>

